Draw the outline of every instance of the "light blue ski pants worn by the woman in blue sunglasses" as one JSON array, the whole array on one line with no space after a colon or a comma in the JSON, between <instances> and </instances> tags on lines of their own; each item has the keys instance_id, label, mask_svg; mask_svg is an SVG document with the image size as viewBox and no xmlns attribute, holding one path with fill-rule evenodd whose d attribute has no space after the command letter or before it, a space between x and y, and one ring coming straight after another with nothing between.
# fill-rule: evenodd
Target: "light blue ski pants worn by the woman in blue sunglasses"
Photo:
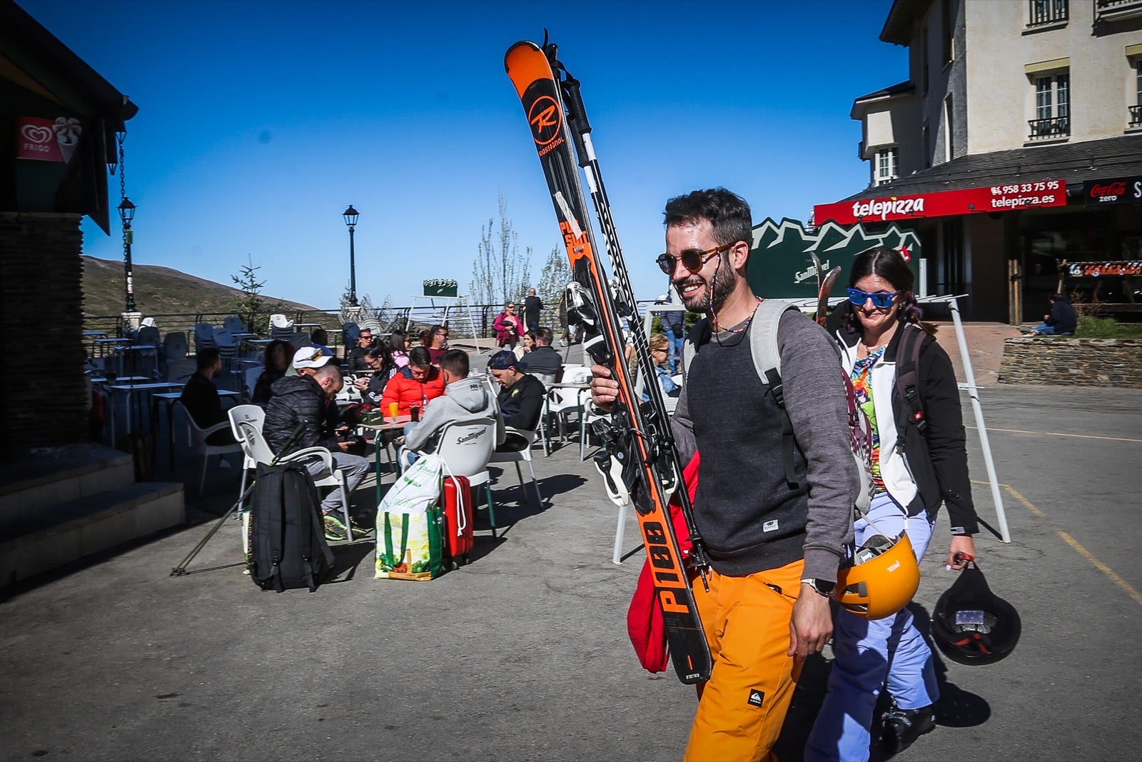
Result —
<instances>
[{"instance_id":1,"label":"light blue ski pants worn by the woman in blue sunglasses","mask_svg":"<svg viewBox=\"0 0 1142 762\"><path fill-rule=\"evenodd\" d=\"M853 524L858 547L871 535L899 536L907 528L916 560L924 556L932 539L927 514L906 519L903 508L887 492L879 492L872 497L869 519L876 529L864 519ZM829 692L805 746L807 762L868 760L872 712L885 684L902 709L918 709L940 696L932 651L907 608L874 621L839 610L834 618L833 653Z\"/></svg>"}]
</instances>

